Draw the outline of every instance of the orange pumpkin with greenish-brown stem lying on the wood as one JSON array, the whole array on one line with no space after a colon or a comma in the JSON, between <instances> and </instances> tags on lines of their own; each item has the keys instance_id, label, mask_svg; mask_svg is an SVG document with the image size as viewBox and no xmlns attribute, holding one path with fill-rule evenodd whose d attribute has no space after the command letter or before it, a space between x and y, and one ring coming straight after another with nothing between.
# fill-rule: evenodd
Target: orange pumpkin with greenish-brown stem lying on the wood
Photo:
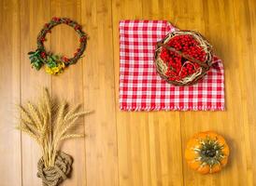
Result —
<instances>
[{"instance_id":1,"label":"orange pumpkin with greenish-brown stem lying on the wood","mask_svg":"<svg viewBox=\"0 0 256 186\"><path fill-rule=\"evenodd\" d=\"M185 159L192 169L201 174L220 172L226 166L229 146L223 137L213 131L200 132L188 141Z\"/></svg>"}]
</instances>

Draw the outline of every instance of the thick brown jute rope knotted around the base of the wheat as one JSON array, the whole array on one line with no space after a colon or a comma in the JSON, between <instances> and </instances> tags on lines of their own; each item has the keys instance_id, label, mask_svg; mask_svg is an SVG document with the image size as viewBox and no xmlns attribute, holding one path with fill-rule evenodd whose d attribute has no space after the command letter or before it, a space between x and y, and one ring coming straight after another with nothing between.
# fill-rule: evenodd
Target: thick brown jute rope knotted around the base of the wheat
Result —
<instances>
[{"instance_id":1,"label":"thick brown jute rope knotted around the base of the wheat","mask_svg":"<svg viewBox=\"0 0 256 186\"><path fill-rule=\"evenodd\" d=\"M45 167L43 158L40 158L37 163L37 177L42 179L43 186L57 186L67 179L72 163L71 156L63 152L57 153L54 166Z\"/></svg>"}]
</instances>

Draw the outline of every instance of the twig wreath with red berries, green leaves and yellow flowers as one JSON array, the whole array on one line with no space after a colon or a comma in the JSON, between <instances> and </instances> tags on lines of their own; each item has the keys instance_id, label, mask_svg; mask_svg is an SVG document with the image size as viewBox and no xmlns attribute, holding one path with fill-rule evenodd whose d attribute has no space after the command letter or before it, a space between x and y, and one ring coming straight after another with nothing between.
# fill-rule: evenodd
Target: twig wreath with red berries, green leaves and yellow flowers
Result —
<instances>
[{"instance_id":1,"label":"twig wreath with red berries, green leaves and yellow flowers","mask_svg":"<svg viewBox=\"0 0 256 186\"><path fill-rule=\"evenodd\" d=\"M73 58L59 56L46 51L44 42L46 41L46 34L51 33L51 29L59 24L66 24L74 28L79 35L80 45L74 53ZM68 18L52 18L49 23L46 23L44 28L40 31L36 39L37 49L28 53L31 60L32 67L40 70L43 65L46 65L46 72L50 74L63 73L64 68L70 64L75 64L81 57L87 44L87 34L81 30L81 25L76 21Z\"/></svg>"}]
</instances>

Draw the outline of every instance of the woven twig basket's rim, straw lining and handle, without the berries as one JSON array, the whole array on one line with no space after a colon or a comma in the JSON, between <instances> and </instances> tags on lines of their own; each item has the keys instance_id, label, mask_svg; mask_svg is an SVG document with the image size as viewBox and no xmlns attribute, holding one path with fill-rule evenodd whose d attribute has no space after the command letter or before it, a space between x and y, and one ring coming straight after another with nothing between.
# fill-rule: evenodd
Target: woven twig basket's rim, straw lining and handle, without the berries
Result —
<instances>
[{"instance_id":1,"label":"woven twig basket's rim, straw lining and handle, without the berries","mask_svg":"<svg viewBox=\"0 0 256 186\"><path fill-rule=\"evenodd\" d=\"M191 56L186 55L186 54L176 50L176 48L167 46L167 43L173 37L175 37L177 35L184 35L184 34L192 35L192 37L204 49L204 51L206 52L206 60L205 61L193 59ZM189 60L192 63L195 62L195 63L199 64L200 67L198 68L198 70L195 73L192 73L189 76L186 76L180 80L171 81L168 78L168 76L166 76L166 74L165 74L167 72L168 67L164 63L164 60L162 60L160 58L160 53L161 53L161 50L163 47L165 47L166 49L168 49L172 52L176 52L179 56L181 56L182 58L184 58L186 60ZM157 43L156 50L155 50L154 62L156 65L157 73L159 73L159 75L166 82L173 84L175 86L189 86L189 85L195 84L198 80L200 80L202 77L204 77L206 75L206 73L209 71L210 66L212 64L212 46L208 43L206 38L201 33L197 33L194 31L184 31L184 30L183 31L175 31L173 33L168 33L163 40L161 40Z\"/></svg>"}]
</instances>

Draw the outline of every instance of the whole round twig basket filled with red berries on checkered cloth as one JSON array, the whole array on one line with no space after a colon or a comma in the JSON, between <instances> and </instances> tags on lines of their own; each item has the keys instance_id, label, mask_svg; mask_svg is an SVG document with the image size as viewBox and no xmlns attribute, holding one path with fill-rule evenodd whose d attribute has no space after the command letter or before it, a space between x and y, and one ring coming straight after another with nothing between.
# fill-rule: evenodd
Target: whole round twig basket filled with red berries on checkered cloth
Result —
<instances>
[{"instance_id":1,"label":"whole round twig basket filled with red berries on checkered cloth","mask_svg":"<svg viewBox=\"0 0 256 186\"><path fill-rule=\"evenodd\" d=\"M157 73L170 84L189 86L206 75L212 62L212 46L200 34L175 31L158 42Z\"/></svg>"}]
</instances>

